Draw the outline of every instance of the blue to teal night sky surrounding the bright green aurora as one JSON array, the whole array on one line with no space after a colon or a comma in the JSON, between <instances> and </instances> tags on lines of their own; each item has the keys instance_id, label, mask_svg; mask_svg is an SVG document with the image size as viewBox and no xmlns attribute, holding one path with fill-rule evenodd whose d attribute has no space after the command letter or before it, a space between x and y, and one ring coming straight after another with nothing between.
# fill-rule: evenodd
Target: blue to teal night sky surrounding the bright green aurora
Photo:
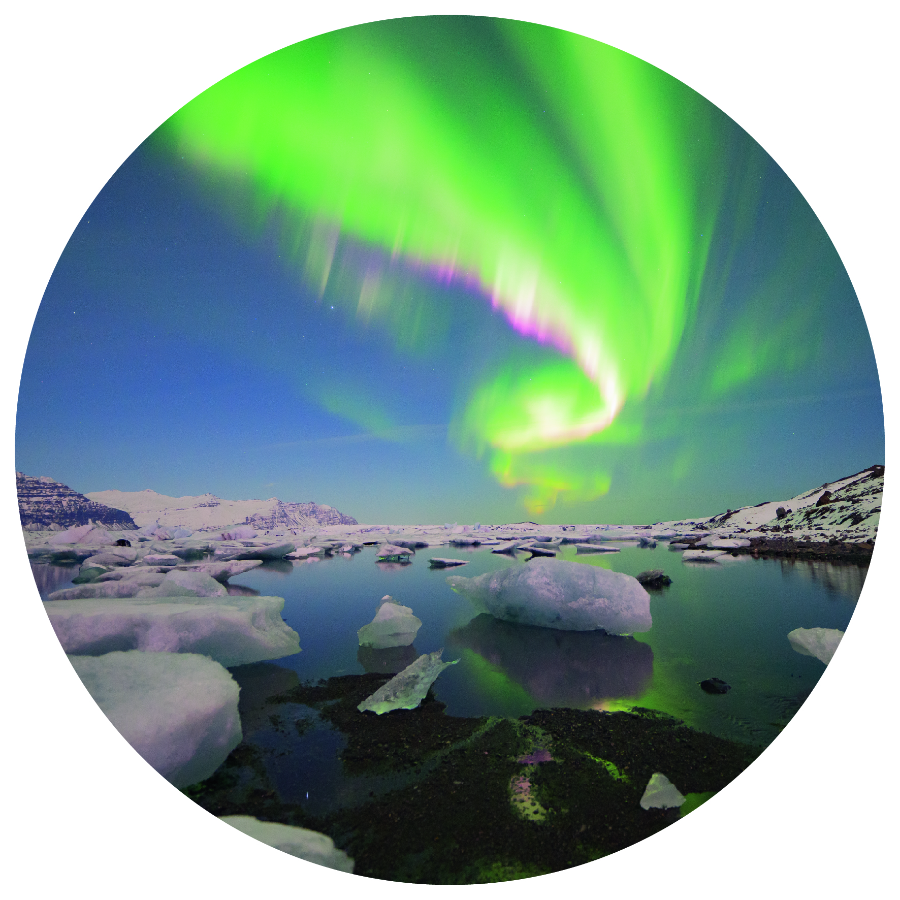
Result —
<instances>
[{"instance_id":1,"label":"blue to teal night sky surrounding the bright green aurora","mask_svg":"<svg viewBox=\"0 0 900 900\"><path fill-rule=\"evenodd\" d=\"M607 493L563 491L536 514L527 484L504 486L490 454L455 437L499 361L519 371L558 348L511 327L471 280L398 263L352 228L320 293L286 248L291 209L261 209L246 181L158 136L112 175L50 279L23 368L17 468L81 492L487 523L711 515L883 463L878 374L841 261L779 166L709 115L716 229L671 365L619 414L639 434L541 451L554 472L607 473ZM400 313L364 326L354 311L372 266L394 266ZM730 347L751 359L713 390Z\"/></svg>"}]
</instances>

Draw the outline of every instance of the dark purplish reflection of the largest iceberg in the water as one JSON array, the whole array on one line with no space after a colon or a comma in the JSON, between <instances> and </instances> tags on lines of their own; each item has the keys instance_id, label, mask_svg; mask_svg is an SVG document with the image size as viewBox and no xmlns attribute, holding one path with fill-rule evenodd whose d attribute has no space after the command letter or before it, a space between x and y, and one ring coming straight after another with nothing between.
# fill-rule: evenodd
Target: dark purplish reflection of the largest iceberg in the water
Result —
<instances>
[{"instance_id":1,"label":"dark purplish reflection of the largest iceberg in the water","mask_svg":"<svg viewBox=\"0 0 900 900\"><path fill-rule=\"evenodd\" d=\"M488 614L448 636L500 667L546 707L638 697L653 675L653 650L633 637L517 625Z\"/></svg>"}]
</instances>

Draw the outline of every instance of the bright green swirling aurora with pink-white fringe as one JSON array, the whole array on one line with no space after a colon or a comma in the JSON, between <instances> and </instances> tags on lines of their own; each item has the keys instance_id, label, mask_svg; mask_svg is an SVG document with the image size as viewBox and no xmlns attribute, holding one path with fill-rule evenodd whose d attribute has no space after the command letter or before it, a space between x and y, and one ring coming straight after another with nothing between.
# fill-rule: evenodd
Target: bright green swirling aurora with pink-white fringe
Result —
<instances>
[{"instance_id":1,"label":"bright green swirling aurora with pink-white fringe","mask_svg":"<svg viewBox=\"0 0 900 900\"><path fill-rule=\"evenodd\" d=\"M823 298L846 279L797 194L787 239L736 297L769 157L659 69L536 24L334 31L213 85L153 140L238 231L275 225L305 287L397 353L452 334L429 284L504 316L518 342L460 379L449 436L527 486L533 516L601 497L650 440L684 438L662 472L677 479L703 451L673 396L752 402L744 389L821 363ZM374 388L320 402L370 432L397 424Z\"/></svg>"}]
</instances>

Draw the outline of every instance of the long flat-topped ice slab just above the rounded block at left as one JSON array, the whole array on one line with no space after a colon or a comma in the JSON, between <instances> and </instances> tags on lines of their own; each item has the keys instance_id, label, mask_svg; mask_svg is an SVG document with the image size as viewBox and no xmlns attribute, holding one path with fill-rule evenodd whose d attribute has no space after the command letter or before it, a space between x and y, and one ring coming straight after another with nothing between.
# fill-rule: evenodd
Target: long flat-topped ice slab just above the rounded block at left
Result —
<instances>
[{"instance_id":1,"label":"long flat-topped ice slab just above the rounded block at left","mask_svg":"<svg viewBox=\"0 0 900 900\"><path fill-rule=\"evenodd\" d=\"M284 623L283 608L281 597L136 597L44 603L66 653L202 653L223 666L299 653L300 635Z\"/></svg>"}]
</instances>

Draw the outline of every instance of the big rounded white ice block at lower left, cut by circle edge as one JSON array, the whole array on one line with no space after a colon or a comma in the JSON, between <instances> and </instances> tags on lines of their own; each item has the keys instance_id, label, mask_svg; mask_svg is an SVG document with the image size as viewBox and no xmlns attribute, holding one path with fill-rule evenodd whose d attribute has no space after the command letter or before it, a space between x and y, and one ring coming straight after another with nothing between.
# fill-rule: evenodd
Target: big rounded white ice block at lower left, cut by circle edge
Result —
<instances>
[{"instance_id":1,"label":"big rounded white ice block at lower left, cut by circle edge","mask_svg":"<svg viewBox=\"0 0 900 900\"><path fill-rule=\"evenodd\" d=\"M208 779L238 746L238 684L195 653L69 656L121 736L175 788Z\"/></svg>"}]
</instances>

